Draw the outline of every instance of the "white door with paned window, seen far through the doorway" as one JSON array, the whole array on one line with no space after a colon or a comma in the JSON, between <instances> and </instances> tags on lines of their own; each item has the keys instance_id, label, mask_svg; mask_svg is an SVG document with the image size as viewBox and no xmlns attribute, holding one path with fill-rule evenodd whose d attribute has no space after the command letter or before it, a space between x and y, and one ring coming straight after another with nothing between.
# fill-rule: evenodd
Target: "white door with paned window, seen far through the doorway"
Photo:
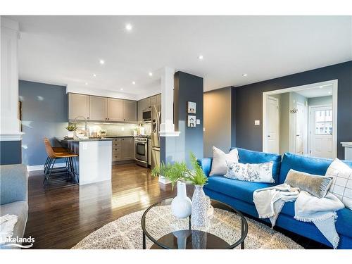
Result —
<instances>
[{"instance_id":1,"label":"white door with paned window, seen far through the doorway","mask_svg":"<svg viewBox=\"0 0 352 264\"><path fill-rule=\"evenodd\" d=\"M332 153L332 106L310 108L310 155L334 158Z\"/></svg>"}]
</instances>

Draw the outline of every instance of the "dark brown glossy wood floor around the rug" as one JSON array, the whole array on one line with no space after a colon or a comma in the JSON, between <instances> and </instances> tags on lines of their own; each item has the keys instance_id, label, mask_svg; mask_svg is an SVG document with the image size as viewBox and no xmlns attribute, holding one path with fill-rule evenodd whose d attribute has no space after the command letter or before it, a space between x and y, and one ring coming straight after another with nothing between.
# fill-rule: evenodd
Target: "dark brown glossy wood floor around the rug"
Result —
<instances>
[{"instance_id":1,"label":"dark brown glossy wood floor around the rug","mask_svg":"<svg viewBox=\"0 0 352 264\"><path fill-rule=\"evenodd\" d=\"M42 180L37 174L28 182L25 237L34 237L34 249L70 249L108 222L175 195L170 186L162 188L149 169L134 164L113 166L111 182L44 191ZM187 188L191 195L192 188ZM308 249L325 248L296 234L284 234Z\"/></svg>"}]
</instances>

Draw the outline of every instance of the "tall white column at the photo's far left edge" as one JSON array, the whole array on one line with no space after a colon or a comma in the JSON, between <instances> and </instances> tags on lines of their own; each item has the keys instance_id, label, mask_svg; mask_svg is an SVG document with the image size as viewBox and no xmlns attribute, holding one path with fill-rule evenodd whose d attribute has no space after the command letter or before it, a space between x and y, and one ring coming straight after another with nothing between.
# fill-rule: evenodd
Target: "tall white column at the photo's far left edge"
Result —
<instances>
[{"instance_id":1,"label":"tall white column at the photo's far left edge","mask_svg":"<svg viewBox=\"0 0 352 264\"><path fill-rule=\"evenodd\" d=\"M18 22L1 16L0 140L22 139L18 120Z\"/></svg>"}]
</instances>

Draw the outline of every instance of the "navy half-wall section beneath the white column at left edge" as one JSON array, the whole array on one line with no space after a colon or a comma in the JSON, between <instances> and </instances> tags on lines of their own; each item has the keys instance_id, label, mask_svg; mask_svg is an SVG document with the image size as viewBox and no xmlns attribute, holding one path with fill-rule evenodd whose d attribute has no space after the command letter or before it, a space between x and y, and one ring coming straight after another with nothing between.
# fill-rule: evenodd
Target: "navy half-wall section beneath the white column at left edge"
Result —
<instances>
[{"instance_id":1,"label":"navy half-wall section beneath the white column at left edge","mask_svg":"<svg viewBox=\"0 0 352 264\"><path fill-rule=\"evenodd\" d=\"M0 165L22 163L21 141L0 142Z\"/></svg>"}]
</instances>

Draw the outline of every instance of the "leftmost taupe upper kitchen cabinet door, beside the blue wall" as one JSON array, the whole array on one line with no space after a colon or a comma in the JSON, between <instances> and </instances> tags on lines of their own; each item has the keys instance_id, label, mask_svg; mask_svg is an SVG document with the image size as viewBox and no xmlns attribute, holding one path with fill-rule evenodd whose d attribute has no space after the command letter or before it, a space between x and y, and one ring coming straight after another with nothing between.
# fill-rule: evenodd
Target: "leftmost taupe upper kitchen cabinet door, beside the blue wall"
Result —
<instances>
[{"instance_id":1,"label":"leftmost taupe upper kitchen cabinet door, beside the blue wall","mask_svg":"<svg viewBox=\"0 0 352 264\"><path fill-rule=\"evenodd\" d=\"M85 94L68 94L68 119L89 119L89 96Z\"/></svg>"}]
</instances>

